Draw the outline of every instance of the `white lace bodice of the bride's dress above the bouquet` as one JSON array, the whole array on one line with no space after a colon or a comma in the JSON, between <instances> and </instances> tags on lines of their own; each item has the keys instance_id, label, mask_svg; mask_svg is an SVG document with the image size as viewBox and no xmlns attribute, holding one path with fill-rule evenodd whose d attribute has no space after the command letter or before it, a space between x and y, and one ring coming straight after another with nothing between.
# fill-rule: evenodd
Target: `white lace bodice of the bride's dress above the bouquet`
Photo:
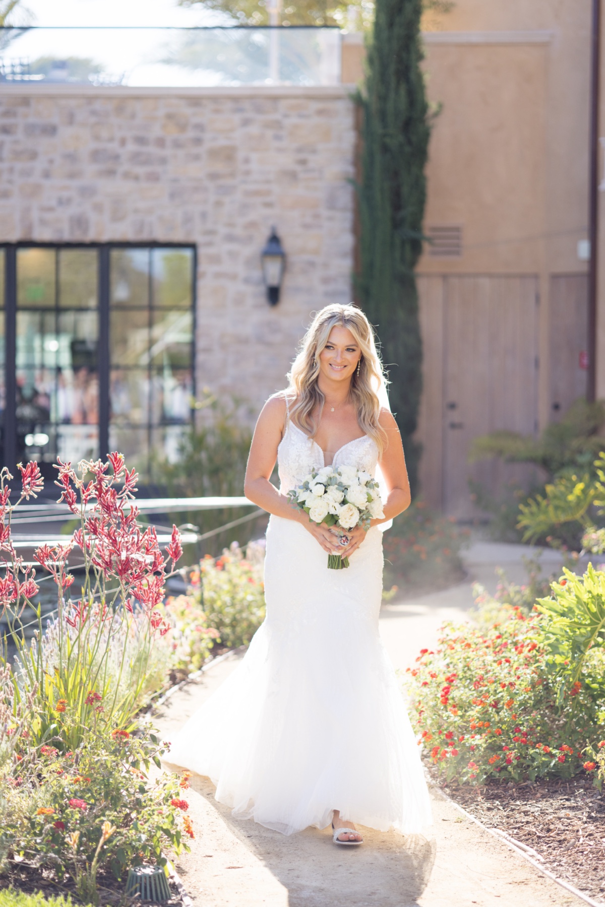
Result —
<instances>
[{"instance_id":1,"label":"white lace bodice of the bride's dress above the bouquet","mask_svg":"<svg viewBox=\"0 0 605 907\"><path fill-rule=\"evenodd\" d=\"M333 466L355 466L374 475L378 462L376 442L364 434L360 438L343 444L335 453ZM287 493L303 483L312 469L324 466L324 452L317 442L309 438L290 419L278 446L279 490Z\"/></svg>"}]
</instances>

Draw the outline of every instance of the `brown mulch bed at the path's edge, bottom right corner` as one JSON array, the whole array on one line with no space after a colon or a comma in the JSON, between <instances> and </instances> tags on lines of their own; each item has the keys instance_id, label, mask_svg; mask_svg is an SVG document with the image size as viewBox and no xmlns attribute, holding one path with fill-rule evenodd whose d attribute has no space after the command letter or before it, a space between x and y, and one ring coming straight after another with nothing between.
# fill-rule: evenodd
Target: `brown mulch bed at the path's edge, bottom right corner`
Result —
<instances>
[{"instance_id":1,"label":"brown mulch bed at the path's edge, bottom right corner","mask_svg":"<svg viewBox=\"0 0 605 907\"><path fill-rule=\"evenodd\" d=\"M531 847L545 869L605 904L605 794L589 778L481 786L434 780L488 828Z\"/></svg>"}]
</instances>

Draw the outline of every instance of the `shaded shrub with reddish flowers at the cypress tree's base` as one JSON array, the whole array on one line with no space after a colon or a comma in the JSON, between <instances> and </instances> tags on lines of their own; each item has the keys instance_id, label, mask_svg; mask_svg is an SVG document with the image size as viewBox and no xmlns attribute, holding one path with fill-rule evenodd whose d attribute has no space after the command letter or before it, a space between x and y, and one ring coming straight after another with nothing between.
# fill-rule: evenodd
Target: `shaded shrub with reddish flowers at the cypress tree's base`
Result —
<instances>
[{"instance_id":1,"label":"shaded shrub with reddish flowers at the cypress tree's base","mask_svg":"<svg viewBox=\"0 0 605 907\"><path fill-rule=\"evenodd\" d=\"M469 534L453 518L437 516L423 502L414 502L385 532L385 586L396 582L403 583L404 590L416 590L461 580L460 552Z\"/></svg>"}]
</instances>

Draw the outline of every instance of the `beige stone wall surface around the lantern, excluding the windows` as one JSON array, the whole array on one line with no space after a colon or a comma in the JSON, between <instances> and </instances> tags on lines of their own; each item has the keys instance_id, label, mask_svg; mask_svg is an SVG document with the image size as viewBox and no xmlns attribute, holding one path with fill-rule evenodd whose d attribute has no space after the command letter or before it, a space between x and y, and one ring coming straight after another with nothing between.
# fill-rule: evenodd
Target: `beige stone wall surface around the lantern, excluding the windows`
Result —
<instances>
[{"instance_id":1,"label":"beige stone wall surface around the lantern, excluding the windows","mask_svg":"<svg viewBox=\"0 0 605 907\"><path fill-rule=\"evenodd\" d=\"M195 243L198 386L256 410L310 313L349 301L354 145L340 88L3 85L0 242ZM275 308L272 225L288 255Z\"/></svg>"}]
</instances>

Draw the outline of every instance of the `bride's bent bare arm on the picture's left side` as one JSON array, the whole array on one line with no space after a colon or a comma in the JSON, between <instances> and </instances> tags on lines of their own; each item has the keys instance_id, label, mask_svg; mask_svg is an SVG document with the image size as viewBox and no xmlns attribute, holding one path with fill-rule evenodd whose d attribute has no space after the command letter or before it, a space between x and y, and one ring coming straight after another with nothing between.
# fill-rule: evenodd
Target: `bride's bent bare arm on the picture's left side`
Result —
<instances>
[{"instance_id":1,"label":"bride's bent bare arm on the picture's left side","mask_svg":"<svg viewBox=\"0 0 605 907\"><path fill-rule=\"evenodd\" d=\"M249 501L258 504L268 513L299 522L329 554L340 551L337 540L327 526L311 522L307 513L296 507L287 495L278 492L269 482L278 459L278 446L283 436L286 419L286 402L283 398L270 397L263 406L254 429L246 469L244 493Z\"/></svg>"}]
</instances>

